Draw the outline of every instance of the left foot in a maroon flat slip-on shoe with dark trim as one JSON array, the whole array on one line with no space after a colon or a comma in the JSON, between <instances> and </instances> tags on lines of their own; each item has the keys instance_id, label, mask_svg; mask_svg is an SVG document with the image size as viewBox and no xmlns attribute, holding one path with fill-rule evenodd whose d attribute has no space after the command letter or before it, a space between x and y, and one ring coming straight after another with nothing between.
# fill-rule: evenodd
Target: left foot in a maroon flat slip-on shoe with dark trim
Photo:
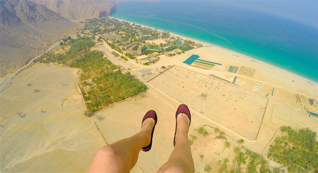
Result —
<instances>
[{"instance_id":1,"label":"left foot in a maroon flat slip-on shoe with dark trim","mask_svg":"<svg viewBox=\"0 0 318 173\"><path fill-rule=\"evenodd\" d=\"M145 133L145 147L142 147L142 151L149 151L151 149L152 145L152 136L155 130L155 126L157 123L157 115L156 112L153 110L150 110L147 112L147 114L142 119L142 128L141 132Z\"/></svg>"}]
</instances>

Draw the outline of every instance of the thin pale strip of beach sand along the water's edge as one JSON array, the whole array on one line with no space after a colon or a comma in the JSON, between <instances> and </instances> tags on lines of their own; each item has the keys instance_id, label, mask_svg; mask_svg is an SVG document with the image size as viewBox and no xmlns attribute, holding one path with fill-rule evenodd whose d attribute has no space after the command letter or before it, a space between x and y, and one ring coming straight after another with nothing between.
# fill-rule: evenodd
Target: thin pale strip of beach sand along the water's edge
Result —
<instances>
[{"instance_id":1,"label":"thin pale strip of beach sand along the water's edge","mask_svg":"<svg viewBox=\"0 0 318 173\"><path fill-rule=\"evenodd\" d=\"M109 16L109 18L114 18L114 19L117 19L117 20L119 20L119 21L128 22L128 23L130 23L130 24L135 23L135 22L130 22L130 21L123 20L123 19L119 19L119 18L112 17L112 16ZM150 26L146 26L146 25L143 25L143 24L138 24L138 23L135 23L135 24L140 25L140 26L142 26L142 27L148 27L148 28L151 28L151 29L156 29L156 28L153 28L153 27L150 27ZM158 31L163 31L163 30L160 30L160 29L157 29L157 30L158 30ZM169 31L169 33L170 33L171 35L173 35L173 36L176 36L176 37L180 37L180 38L183 38L183 39L193 40L193 41L195 41L195 42L197 42L197 43L202 43L203 46L216 46L216 47L219 47L219 48L221 48L221 49L224 49L224 50L233 52L233 53L235 53L235 54L239 54L239 55L245 56L246 58L248 58L248 59L251 60L251 61L255 61L256 63L264 64L264 65L266 65L267 67L270 67L270 68L273 68L273 69L275 69L275 70L281 71L282 73L285 73L285 74L290 73L291 75L294 75L295 77L300 78L300 79L303 80L304 82L311 83L312 85L318 86L318 81L315 81L315 80L309 79L309 78L307 78L307 77L305 77L305 76L302 76L302 75L300 75L300 74L297 74L297 73L288 71L288 70L286 70L286 69L284 69L284 68L281 68L281 67L279 67L279 66L276 66L276 65L274 65L274 64L270 64L270 63L267 63L267 62L265 62L265 61L262 61L262 60L253 58L253 57L251 57L251 56L244 55L244 54L239 53L239 52L235 52L235 51L233 51L233 50L224 48L224 47L219 46L219 45L215 45L215 44L207 43L207 42L200 41L200 40L197 40L197 39L194 39L194 38L182 36L182 35L180 35L180 34L176 34L176 33L170 32L170 31Z\"/></svg>"}]
</instances>

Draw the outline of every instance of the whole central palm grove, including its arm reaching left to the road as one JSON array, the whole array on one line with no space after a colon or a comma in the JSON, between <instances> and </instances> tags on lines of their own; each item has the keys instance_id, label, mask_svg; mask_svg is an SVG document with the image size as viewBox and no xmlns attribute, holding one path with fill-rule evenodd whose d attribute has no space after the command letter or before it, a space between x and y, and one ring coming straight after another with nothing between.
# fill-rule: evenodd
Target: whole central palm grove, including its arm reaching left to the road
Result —
<instances>
[{"instance_id":1,"label":"whole central palm grove, including its arm reaching left to the road","mask_svg":"<svg viewBox=\"0 0 318 173\"><path fill-rule=\"evenodd\" d=\"M65 54L48 52L38 61L81 68L79 86L88 109L86 116L93 116L93 112L147 89L130 73L121 73L120 66L104 58L103 52L90 51L95 43L89 38L71 39L67 44L71 47ZM128 60L124 56L122 58Z\"/></svg>"}]
</instances>

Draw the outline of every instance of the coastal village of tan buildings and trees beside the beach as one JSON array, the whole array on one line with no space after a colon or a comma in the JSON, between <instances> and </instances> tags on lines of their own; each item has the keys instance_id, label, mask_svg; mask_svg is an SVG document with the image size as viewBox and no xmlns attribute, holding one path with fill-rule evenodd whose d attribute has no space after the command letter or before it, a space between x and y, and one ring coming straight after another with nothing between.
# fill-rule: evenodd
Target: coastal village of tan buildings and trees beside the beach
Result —
<instances>
[{"instance_id":1,"label":"coastal village of tan buildings and trees beside the beach","mask_svg":"<svg viewBox=\"0 0 318 173\"><path fill-rule=\"evenodd\" d=\"M143 65L157 62L161 55L176 56L203 46L202 43L189 39L171 37L169 32L130 24L115 18L87 19L82 23L86 25L84 31L78 31L78 36L95 35L97 43L103 40L114 50ZM155 41L158 39L159 43Z\"/></svg>"}]
</instances>

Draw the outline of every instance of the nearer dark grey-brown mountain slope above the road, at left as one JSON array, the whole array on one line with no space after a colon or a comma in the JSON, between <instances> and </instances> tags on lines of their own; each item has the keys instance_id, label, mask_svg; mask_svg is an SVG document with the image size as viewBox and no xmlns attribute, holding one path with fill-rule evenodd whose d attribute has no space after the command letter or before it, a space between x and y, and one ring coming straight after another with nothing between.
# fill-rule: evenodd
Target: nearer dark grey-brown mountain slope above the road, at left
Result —
<instances>
[{"instance_id":1,"label":"nearer dark grey-brown mountain slope above the road, at left","mask_svg":"<svg viewBox=\"0 0 318 173\"><path fill-rule=\"evenodd\" d=\"M14 71L63 36L75 35L75 24L44 5L28 0L0 1L0 73Z\"/></svg>"}]
</instances>

